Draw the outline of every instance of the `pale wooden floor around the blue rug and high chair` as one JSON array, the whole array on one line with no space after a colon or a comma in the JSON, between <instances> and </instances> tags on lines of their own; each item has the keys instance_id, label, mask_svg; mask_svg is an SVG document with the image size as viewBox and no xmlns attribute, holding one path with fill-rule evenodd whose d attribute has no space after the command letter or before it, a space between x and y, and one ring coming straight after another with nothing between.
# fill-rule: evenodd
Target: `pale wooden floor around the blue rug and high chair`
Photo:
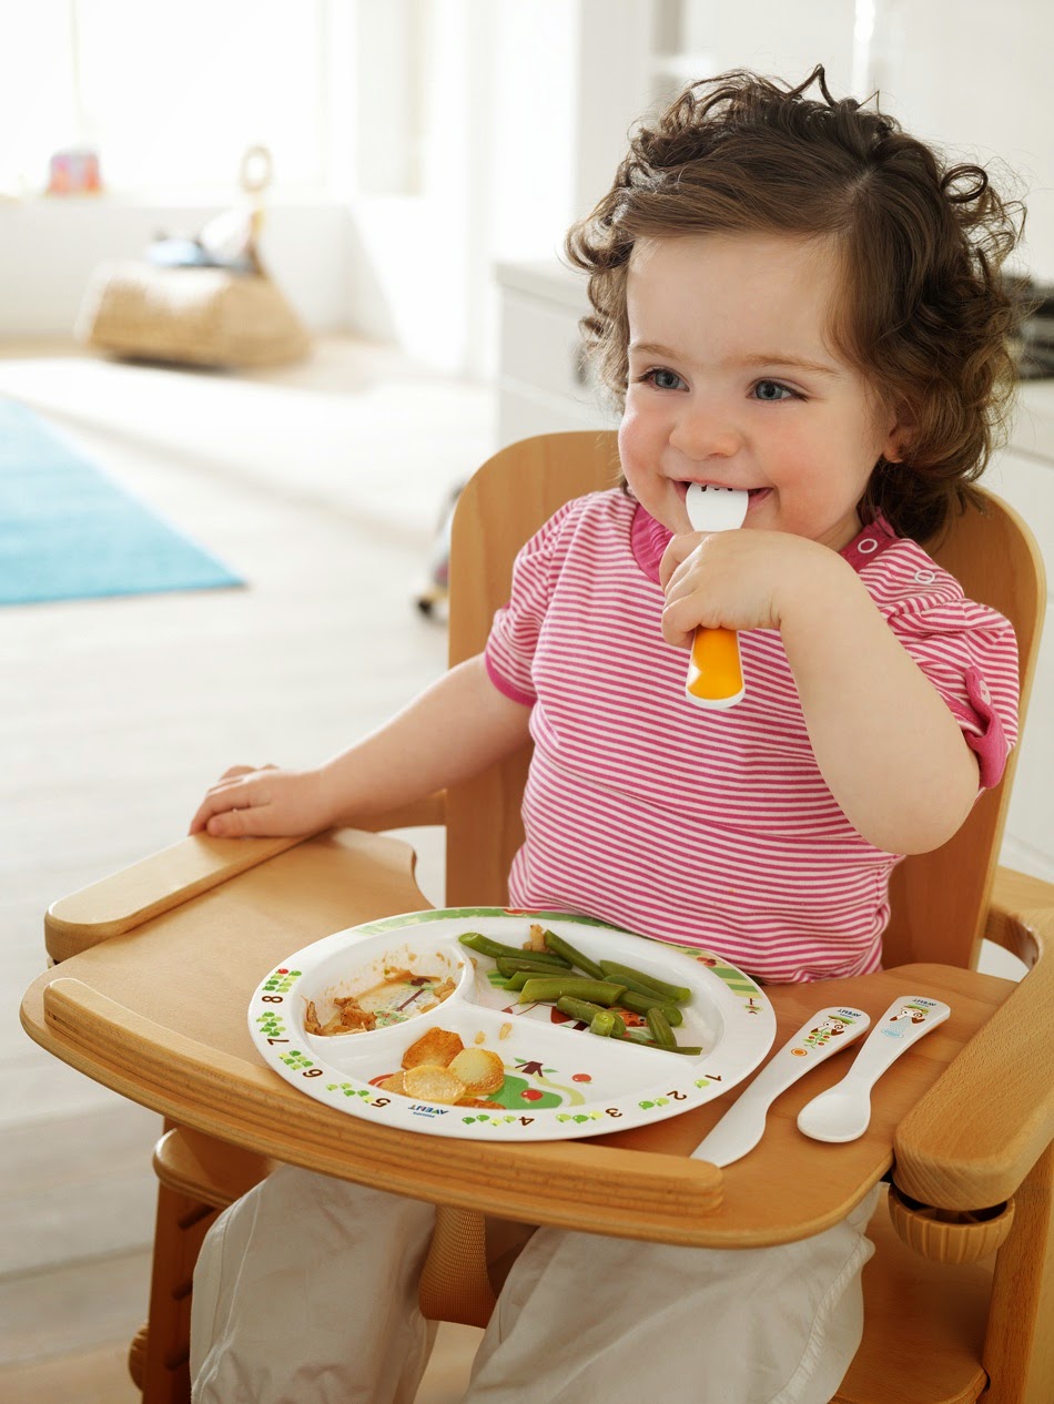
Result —
<instances>
[{"instance_id":1,"label":"pale wooden floor around the blue rug and high chair","mask_svg":"<svg viewBox=\"0 0 1054 1404\"><path fill-rule=\"evenodd\" d=\"M309 764L445 664L415 608L448 494L492 451L493 395L326 340L250 376L0 347L0 396L246 580L242 590L0 609L0 1400L134 1401L157 1118L18 1028L46 906L174 842L228 765ZM441 848L409 834L441 901ZM420 1404L461 1397L444 1327Z\"/></svg>"}]
</instances>

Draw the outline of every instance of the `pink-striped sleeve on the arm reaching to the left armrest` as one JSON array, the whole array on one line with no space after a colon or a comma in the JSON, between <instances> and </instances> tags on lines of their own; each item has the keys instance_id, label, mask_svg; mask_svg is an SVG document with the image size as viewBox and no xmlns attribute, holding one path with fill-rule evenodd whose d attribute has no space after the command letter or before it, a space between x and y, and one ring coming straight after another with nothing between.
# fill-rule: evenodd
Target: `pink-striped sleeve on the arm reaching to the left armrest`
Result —
<instances>
[{"instance_id":1,"label":"pink-striped sleeve on the arm reaching to the left armrest","mask_svg":"<svg viewBox=\"0 0 1054 1404\"><path fill-rule=\"evenodd\" d=\"M534 653L559 571L564 526L575 503L561 507L521 548L513 563L509 604L493 618L483 660L490 681L514 702L534 706Z\"/></svg>"}]
</instances>

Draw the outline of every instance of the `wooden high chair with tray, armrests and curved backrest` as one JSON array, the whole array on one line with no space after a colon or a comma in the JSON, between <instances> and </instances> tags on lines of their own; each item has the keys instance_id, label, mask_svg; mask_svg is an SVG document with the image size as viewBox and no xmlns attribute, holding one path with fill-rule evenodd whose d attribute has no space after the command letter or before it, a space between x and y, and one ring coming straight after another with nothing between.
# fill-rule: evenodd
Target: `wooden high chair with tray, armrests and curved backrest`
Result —
<instances>
[{"instance_id":1,"label":"wooden high chair with tray, armrests and curved backrest","mask_svg":"<svg viewBox=\"0 0 1054 1404\"><path fill-rule=\"evenodd\" d=\"M614 473L607 432L528 439L479 470L454 524L451 663L482 647L520 543ZM936 555L967 594L1013 621L1023 706L1044 608L1027 528L991 498L984 515L953 524ZM450 906L505 903L527 760L378 821L445 823ZM1013 758L949 844L895 870L883 973L767 991L774 1049L826 1004L877 1018L897 995L928 993L951 1005L949 1022L878 1082L860 1140L816 1144L795 1129L805 1101L843 1074L835 1059L774 1104L757 1150L724 1172L687 1155L742 1088L646 1129L513 1146L344 1116L261 1064L246 1008L268 970L332 931L427 906L413 854L393 838L347 828L305 841L197 835L58 901L45 924L58 969L27 991L27 1031L176 1127L155 1157L149 1331L132 1352L146 1404L186 1401L198 1245L216 1209L271 1160L438 1203L422 1306L474 1324L486 1320L524 1226L784 1243L835 1223L892 1168L890 1212L880 1206L870 1230L878 1251L864 1272L864 1342L836 1398L965 1404L987 1389L988 1404L1051 1404L1054 959L1040 956L1054 941L1054 887L996 873L1012 771ZM1020 984L974 970L982 936L1030 966ZM483 1214L500 1219L485 1228Z\"/></svg>"}]
</instances>

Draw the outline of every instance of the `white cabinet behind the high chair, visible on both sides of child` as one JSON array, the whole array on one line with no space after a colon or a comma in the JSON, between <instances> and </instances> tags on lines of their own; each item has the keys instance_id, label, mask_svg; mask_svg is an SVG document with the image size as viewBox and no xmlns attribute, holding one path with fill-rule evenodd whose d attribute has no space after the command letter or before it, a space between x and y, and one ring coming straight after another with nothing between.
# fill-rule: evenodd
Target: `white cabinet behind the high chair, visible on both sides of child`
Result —
<instances>
[{"instance_id":1,"label":"white cabinet behind the high chair, visible on both sides of child","mask_svg":"<svg viewBox=\"0 0 1054 1404\"><path fill-rule=\"evenodd\" d=\"M583 369L579 317L589 310L585 275L557 263L502 264L500 444L559 430L611 428ZM984 484L1029 522L1054 581L1054 383L1026 383L1010 446ZM1029 706L1002 861L1054 880L1054 618Z\"/></svg>"}]
</instances>

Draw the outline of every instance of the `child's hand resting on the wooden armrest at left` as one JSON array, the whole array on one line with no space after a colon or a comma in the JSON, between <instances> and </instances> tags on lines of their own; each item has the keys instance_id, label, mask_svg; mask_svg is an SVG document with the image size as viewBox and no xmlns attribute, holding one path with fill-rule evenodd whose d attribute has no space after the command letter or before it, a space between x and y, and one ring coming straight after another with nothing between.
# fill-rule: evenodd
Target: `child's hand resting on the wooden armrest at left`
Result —
<instances>
[{"instance_id":1,"label":"child's hand resting on the wooden armrest at left","mask_svg":"<svg viewBox=\"0 0 1054 1404\"><path fill-rule=\"evenodd\" d=\"M235 765L207 790L188 833L218 838L315 834L329 823L319 771Z\"/></svg>"}]
</instances>

